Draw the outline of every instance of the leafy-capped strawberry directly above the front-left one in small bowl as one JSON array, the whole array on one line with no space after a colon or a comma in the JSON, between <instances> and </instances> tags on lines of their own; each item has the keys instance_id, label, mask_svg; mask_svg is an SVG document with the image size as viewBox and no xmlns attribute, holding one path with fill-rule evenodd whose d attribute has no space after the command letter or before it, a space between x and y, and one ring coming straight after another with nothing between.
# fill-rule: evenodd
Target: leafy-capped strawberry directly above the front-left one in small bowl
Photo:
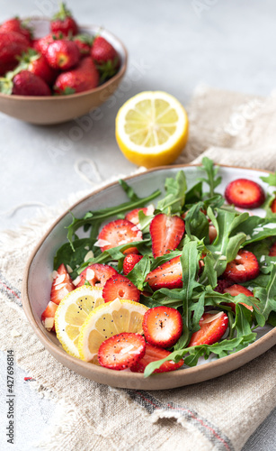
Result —
<instances>
[{"instance_id":1,"label":"leafy-capped strawberry directly above the front-left one in small bowl","mask_svg":"<svg viewBox=\"0 0 276 451\"><path fill-rule=\"evenodd\" d=\"M28 52L23 53L19 61L22 69L29 70L34 75L43 78L48 85L52 85L57 78L56 70L50 68L46 58L35 50L29 49Z\"/></svg>"}]
</instances>

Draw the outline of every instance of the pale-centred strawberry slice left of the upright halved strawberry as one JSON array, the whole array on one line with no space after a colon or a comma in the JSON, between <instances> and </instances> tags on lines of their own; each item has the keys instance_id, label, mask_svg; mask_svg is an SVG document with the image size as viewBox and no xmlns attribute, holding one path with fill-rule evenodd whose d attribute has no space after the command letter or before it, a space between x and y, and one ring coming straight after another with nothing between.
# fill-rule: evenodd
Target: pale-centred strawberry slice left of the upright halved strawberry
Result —
<instances>
[{"instance_id":1,"label":"pale-centred strawberry slice left of the upright halved strawberry","mask_svg":"<svg viewBox=\"0 0 276 451\"><path fill-rule=\"evenodd\" d=\"M141 241L142 239L142 232L127 219L116 219L116 221L108 223L102 227L98 236L102 252L111 249L111 247Z\"/></svg>"}]
</instances>

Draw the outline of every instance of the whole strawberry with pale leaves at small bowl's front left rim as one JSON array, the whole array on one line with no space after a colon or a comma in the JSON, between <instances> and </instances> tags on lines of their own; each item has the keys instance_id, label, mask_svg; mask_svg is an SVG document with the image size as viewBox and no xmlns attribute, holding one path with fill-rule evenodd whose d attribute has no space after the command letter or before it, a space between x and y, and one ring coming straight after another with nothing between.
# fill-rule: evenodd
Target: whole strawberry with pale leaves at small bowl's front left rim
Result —
<instances>
[{"instance_id":1,"label":"whole strawberry with pale leaves at small bowl's front left rim","mask_svg":"<svg viewBox=\"0 0 276 451\"><path fill-rule=\"evenodd\" d=\"M16 96L50 96L51 91L47 83L37 75L22 70L15 75L8 73L6 78L0 79L0 91L4 94Z\"/></svg>"}]
</instances>

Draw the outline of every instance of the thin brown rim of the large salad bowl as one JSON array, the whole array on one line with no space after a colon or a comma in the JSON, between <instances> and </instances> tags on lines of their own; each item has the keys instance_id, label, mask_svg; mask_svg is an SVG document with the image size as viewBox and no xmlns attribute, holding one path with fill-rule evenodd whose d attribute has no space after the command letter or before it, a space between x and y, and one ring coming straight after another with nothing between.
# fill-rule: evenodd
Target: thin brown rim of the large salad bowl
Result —
<instances>
[{"instance_id":1,"label":"thin brown rim of the large salad bowl","mask_svg":"<svg viewBox=\"0 0 276 451\"><path fill-rule=\"evenodd\" d=\"M189 167L200 167L200 166L201 166L201 164L177 164L177 165L158 166L156 168L147 170L145 172L140 172L138 174L130 175L128 177L125 177L124 179L126 179L126 180L135 179L135 178L140 177L141 175L145 175L145 174L148 174L151 172L156 172L158 170L170 170L170 169L181 170L181 169L187 168L187 167L189 168ZM268 174L272 173L272 171L270 171L270 170L245 168L245 167L241 167L241 166L232 166L232 165L226 165L226 164L219 164L219 167L231 168L231 169L241 169L241 170L256 170L256 171L260 171L260 172L266 172ZM272 345L276 345L276 327L273 327L272 330L267 332L264 336L260 337L257 341L255 341L251 345L248 345L244 349L236 352L235 354L229 354L226 357L223 357L223 358L218 359L213 362L209 362L207 364L201 364L199 366L196 365L196 366L193 366L190 368L183 368L183 369L179 369L177 371L173 371L170 373L155 373L152 376L150 376L150 378L146 379L146 378L144 378L143 373L129 373L129 372L120 372L120 371L115 371L115 370L109 370L108 368L104 368L104 367L98 366L98 365L93 365L93 364L90 364L83 360L80 360L76 357L73 357L70 354L67 354L66 351L63 350L63 348L59 347L58 345L56 345L49 339L50 335L48 336L48 334L51 334L51 333L47 332L46 330L44 332L44 330L42 328L40 328L39 324L36 322L36 319L34 318L34 315L32 313L32 309L31 309L31 301L29 299L29 294L28 294L28 282L29 282L29 276L30 276L30 270L31 270L31 263L32 263L33 259L35 258L36 254L38 253L40 246L44 243L45 239L49 236L49 234L52 232L52 230L58 225L58 223L61 221L61 219L63 219L65 216L67 216L67 214L69 213L69 211L71 209L77 207L79 204L81 204L88 198L92 198L94 195L97 195L103 189L110 189L111 187L118 185L118 183L119 183L118 181L114 181L114 182L111 182L111 183L105 185L104 187L102 187L100 189L96 189L92 193L86 195L84 198L81 198L80 200L78 200L70 208L67 208L67 210L61 216L58 216L58 219L52 224L52 226L49 227L49 230L40 238L39 243L35 246L35 248L31 252L29 260L25 266L25 270L24 270L23 278L22 278L22 307L23 307L23 310L25 312L25 315L26 315L29 323L31 324L31 327L34 329L35 334L39 337L40 342L42 343L42 345L44 345L46 347L46 349L48 349L50 354L54 355L54 357L57 360L58 360L58 358L60 358L60 360L58 360L58 361L62 361L62 364L64 364L63 363L64 361L67 361L68 363L72 364L75 367L77 365L79 365L79 367L82 368L83 370L92 372L92 373L96 374L97 376L101 376L101 375L111 376L113 374L115 376L114 379L118 380L118 374L120 374L120 380L122 383L129 381L129 378L131 378L131 381L134 381L134 382L135 381L137 381L137 382L145 381L147 383L147 380L152 378L152 376L154 376L156 382L159 381L162 383L162 382L167 381L168 377L170 378L170 381L177 382L177 380L179 381L179 379L181 377L184 378L185 374L187 374L189 376L193 376L193 375L200 376L201 373L208 373L210 370L215 370L216 368L219 368L220 366L223 366L224 364L235 362L235 361L240 362L240 364L238 364L235 367L235 369L236 369L239 366L242 366L242 365L246 364L247 362L253 360L256 356L263 354L270 347L272 347ZM265 343L266 343L266 348L263 351L263 353L256 354L259 347L263 346L263 344L265 344ZM251 349L252 354L255 354L255 356L253 358L250 358L249 360L244 361L243 357L244 357L244 355L246 355L248 353L249 349ZM57 358L57 355L58 355L58 358ZM233 370L234 369L231 369L229 371L233 371ZM74 370L74 371L76 371L76 370ZM224 373L229 373L229 371L224 372ZM76 371L76 373L77 373L77 371ZM199 381L195 381L195 382L191 382L191 383L207 381L208 379L218 377L219 375L222 375L224 373L219 373L219 374L217 374L217 376L210 375L209 377L205 377L204 379L199 379ZM91 379L93 379L93 378L91 378ZM177 383L175 385L174 382L172 382L172 388L185 385L185 383L183 383L183 384ZM189 383L189 384L191 384L191 383ZM115 384L115 386L120 386L120 385ZM124 385L121 385L121 386L124 386ZM162 388L160 388L160 390L161 389ZM143 390L143 387L141 388L141 390ZM149 390L149 389L146 388L145 390ZM155 390L158 390L157 387Z\"/></svg>"}]
</instances>

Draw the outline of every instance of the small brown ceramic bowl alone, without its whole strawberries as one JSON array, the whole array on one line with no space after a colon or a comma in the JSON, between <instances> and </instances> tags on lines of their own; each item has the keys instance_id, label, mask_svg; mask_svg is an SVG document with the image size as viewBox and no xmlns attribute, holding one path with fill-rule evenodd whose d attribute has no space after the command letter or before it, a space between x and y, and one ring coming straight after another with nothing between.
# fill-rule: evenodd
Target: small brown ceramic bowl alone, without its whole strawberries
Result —
<instances>
[{"instance_id":1,"label":"small brown ceramic bowl alone, without its whole strawberries","mask_svg":"<svg viewBox=\"0 0 276 451\"><path fill-rule=\"evenodd\" d=\"M47 19L32 19L31 25L37 38L49 33ZM96 34L99 29L99 26L92 25L81 27L80 32ZM99 87L68 96L27 97L6 96L0 93L0 111L31 124L43 125L60 124L92 113L119 87L127 69L128 52L122 42L107 30L101 29L101 35L111 42L120 55L120 70L114 77Z\"/></svg>"}]
</instances>

